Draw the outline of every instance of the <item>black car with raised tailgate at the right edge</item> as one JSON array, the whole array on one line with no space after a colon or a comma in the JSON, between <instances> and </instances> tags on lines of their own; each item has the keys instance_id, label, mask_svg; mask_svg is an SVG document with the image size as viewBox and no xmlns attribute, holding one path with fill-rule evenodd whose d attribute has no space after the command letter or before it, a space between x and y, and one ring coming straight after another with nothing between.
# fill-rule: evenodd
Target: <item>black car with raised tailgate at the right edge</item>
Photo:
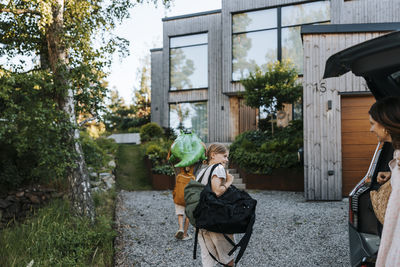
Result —
<instances>
[{"instance_id":1,"label":"black car with raised tailgate at the right edge","mask_svg":"<svg viewBox=\"0 0 400 267\"><path fill-rule=\"evenodd\" d=\"M372 39L332 55L324 78L352 71L364 77L375 99L400 96L400 32ZM349 195L349 241L352 266L374 266L382 225L377 220L370 191L377 190L377 174L388 171L391 143L378 144L367 174ZM361 177L360 177L361 178Z\"/></svg>"}]
</instances>

